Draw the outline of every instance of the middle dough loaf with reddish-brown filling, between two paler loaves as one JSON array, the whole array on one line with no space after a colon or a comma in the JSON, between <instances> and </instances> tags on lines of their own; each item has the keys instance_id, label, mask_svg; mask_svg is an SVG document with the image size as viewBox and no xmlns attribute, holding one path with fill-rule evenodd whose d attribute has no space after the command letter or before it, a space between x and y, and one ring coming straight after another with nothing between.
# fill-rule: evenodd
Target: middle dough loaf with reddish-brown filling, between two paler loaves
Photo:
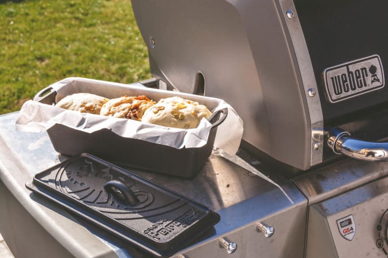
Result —
<instances>
[{"instance_id":1,"label":"middle dough loaf with reddish-brown filling, between two paler loaves","mask_svg":"<svg viewBox=\"0 0 388 258\"><path fill-rule=\"evenodd\" d=\"M141 121L144 112L155 103L146 96L123 96L106 102L100 115Z\"/></svg>"}]
</instances>

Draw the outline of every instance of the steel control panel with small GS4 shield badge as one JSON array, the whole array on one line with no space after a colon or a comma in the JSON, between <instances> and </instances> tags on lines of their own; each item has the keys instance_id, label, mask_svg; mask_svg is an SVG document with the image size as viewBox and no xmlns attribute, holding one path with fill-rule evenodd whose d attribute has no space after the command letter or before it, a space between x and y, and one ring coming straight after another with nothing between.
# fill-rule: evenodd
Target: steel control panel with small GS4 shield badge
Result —
<instances>
[{"instance_id":1,"label":"steel control panel with small GS4 shield badge","mask_svg":"<svg viewBox=\"0 0 388 258\"><path fill-rule=\"evenodd\" d=\"M387 186L385 177L311 205L305 257L387 257ZM346 217L353 220L341 226Z\"/></svg>"}]
</instances>

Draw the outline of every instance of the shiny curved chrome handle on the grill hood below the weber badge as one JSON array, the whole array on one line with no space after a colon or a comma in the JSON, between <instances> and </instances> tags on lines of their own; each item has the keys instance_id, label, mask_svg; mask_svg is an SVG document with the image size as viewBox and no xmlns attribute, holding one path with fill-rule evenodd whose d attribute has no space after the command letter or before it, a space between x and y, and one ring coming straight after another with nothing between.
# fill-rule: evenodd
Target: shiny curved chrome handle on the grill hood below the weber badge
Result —
<instances>
[{"instance_id":1,"label":"shiny curved chrome handle on the grill hood below the weber badge","mask_svg":"<svg viewBox=\"0 0 388 258\"><path fill-rule=\"evenodd\" d=\"M331 129L327 135L327 145L336 154L367 161L388 160L388 142L370 142L353 138L340 128Z\"/></svg>"}]
</instances>

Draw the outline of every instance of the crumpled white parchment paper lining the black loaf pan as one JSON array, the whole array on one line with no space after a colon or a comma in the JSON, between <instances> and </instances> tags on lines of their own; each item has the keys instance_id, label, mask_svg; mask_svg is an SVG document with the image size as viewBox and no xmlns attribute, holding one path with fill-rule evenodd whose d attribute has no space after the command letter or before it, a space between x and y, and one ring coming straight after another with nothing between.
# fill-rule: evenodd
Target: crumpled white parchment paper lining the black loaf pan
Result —
<instances>
[{"instance_id":1,"label":"crumpled white parchment paper lining the black loaf pan","mask_svg":"<svg viewBox=\"0 0 388 258\"><path fill-rule=\"evenodd\" d=\"M212 112L227 108L228 116L218 126L214 146L233 155L237 152L241 141L243 132L242 120L236 111L221 99L150 89L141 84L126 85L79 77L66 78L50 85L50 87L57 92L56 102L73 93L87 92L106 98L116 98L124 95L146 95L154 101L166 97L180 96L206 105ZM38 98L36 97L35 99L37 100ZM19 131L42 132L55 124L62 124L88 133L107 128L122 137L146 140L175 148L194 148L205 145L211 129L211 124L206 119L202 119L199 126L195 129L176 129L134 120L65 110L33 100L25 102L22 106L19 118L16 121L16 129Z\"/></svg>"}]
</instances>

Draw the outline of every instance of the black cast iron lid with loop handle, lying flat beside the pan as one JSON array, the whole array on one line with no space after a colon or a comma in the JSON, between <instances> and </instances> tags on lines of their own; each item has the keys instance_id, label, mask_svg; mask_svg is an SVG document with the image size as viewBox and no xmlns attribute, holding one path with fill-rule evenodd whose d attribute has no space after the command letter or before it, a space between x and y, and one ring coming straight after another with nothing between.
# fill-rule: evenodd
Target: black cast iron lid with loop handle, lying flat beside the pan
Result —
<instances>
[{"instance_id":1,"label":"black cast iron lid with loop handle, lying flat beside the pan","mask_svg":"<svg viewBox=\"0 0 388 258\"><path fill-rule=\"evenodd\" d=\"M85 153L26 187L158 257L187 247L220 220L194 200Z\"/></svg>"}]
</instances>

